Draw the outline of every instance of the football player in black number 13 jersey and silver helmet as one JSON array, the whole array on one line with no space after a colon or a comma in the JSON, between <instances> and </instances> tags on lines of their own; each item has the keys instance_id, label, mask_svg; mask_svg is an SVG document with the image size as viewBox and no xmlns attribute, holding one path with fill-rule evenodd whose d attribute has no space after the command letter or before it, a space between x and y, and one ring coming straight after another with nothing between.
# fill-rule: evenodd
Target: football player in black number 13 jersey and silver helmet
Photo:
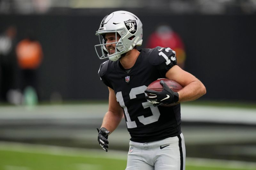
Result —
<instances>
[{"instance_id":1,"label":"football player in black number 13 jersey and silver helmet","mask_svg":"<svg viewBox=\"0 0 256 170\"><path fill-rule=\"evenodd\" d=\"M105 16L96 35L100 39L95 45L97 55L109 59L98 72L109 90L108 111L98 129L100 146L108 151L108 135L124 115L131 135L126 170L185 169L180 104L162 104L196 100L206 93L204 85L177 66L170 47L137 50L142 44L142 23L130 12L115 11ZM158 78L172 79L184 88L173 92L161 81L162 92L146 90Z\"/></svg>"}]
</instances>

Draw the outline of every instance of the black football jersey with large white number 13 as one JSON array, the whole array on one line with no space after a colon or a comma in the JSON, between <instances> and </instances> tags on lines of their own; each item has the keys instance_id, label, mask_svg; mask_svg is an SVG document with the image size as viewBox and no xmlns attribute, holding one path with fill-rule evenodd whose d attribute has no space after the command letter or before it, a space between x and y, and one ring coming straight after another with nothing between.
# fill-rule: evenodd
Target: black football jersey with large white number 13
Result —
<instances>
[{"instance_id":1,"label":"black football jersey with large white number 13","mask_svg":"<svg viewBox=\"0 0 256 170\"><path fill-rule=\"evenodd\" d=\"M144 92L150 83L165 78L166 72L176 64L171 48L156 47L141 49L129 73L119 61L108 60L100 65L100 79L115 91L132 141L151 142L181 133L180 104L154 107Z\"/></svg>"}]
</instances>

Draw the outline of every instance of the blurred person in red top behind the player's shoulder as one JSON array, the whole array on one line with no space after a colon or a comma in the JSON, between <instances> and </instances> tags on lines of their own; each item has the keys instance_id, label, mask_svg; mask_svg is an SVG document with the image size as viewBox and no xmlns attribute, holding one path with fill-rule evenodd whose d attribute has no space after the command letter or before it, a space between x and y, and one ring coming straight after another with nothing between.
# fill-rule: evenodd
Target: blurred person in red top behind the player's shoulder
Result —
<instances>
[{"instance_id":1,"label":"blurred person in red top behind the player's shoulder","mask_svg":"<svg viewBox=\"0 0 256 170\"><path fill-rule=\"evenodd\" d=\"M171 26L160 25L150 34L146 48L170 47L176 52L177 65L184 69L186 52L184 43L178 33L174 32Z\"/></svg>"}]
</instances>

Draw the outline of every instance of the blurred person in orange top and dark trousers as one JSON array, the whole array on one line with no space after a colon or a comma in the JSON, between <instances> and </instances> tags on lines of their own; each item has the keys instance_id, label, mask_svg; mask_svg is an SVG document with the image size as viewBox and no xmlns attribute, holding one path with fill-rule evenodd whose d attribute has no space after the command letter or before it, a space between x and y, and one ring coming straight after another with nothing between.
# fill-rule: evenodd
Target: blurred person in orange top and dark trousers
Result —
<instances>
[{"instance_id":1,"label":"blurred person in orange top and dark trousers","mask_svg":"<svg viewBox=\"0 0 256 170\"><path fill-rule=\"evenodd\" d=\"M38 102L37 70L42 63L42 45L36 40L33 31L21 40L16 47L17 61L21 70L21 90L27 105Z\"/></svg>"}]
</instances>

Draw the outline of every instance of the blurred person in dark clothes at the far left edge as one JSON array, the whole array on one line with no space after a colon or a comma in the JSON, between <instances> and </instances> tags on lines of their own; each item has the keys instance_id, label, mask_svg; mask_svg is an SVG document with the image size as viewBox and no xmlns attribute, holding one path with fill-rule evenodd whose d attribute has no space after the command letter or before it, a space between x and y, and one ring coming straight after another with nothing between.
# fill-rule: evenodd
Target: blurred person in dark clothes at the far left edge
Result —
<instances>
[{"instance_id":1,"label":"blurred person in dark clothes at the far left edge","mask_svg":"<svg viewBox=\"0 0 256 170\"><path fill-rule=\"evenodd\" d=\"M7 93L15 88L16 69L16 34L15 26L8 26L0 35L0 100L7 102Z\"/></svg>"}]
</instances>

